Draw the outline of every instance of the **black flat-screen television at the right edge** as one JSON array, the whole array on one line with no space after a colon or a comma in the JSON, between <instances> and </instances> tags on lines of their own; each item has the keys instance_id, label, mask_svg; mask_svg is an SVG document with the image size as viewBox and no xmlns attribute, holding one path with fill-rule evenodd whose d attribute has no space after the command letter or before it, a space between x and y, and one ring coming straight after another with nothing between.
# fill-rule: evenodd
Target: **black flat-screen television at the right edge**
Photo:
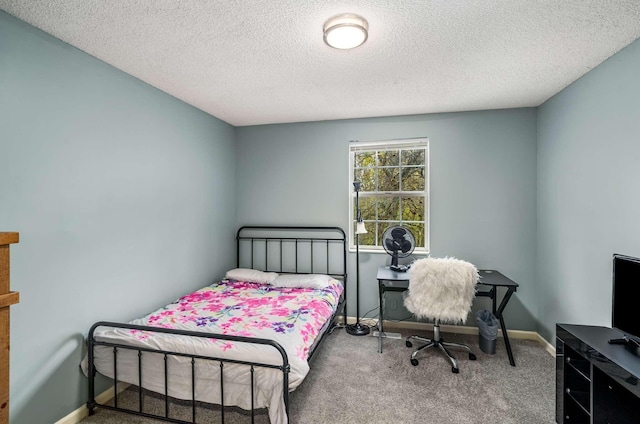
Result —
<instances>
[{"instance_id":1,"label":"black flat-screen television at the right edge","mask_svg":"<svg viewBox=\"0 0 640 424\"><path fill-rule=\"evenodd\" d=\"M611 326L623 333L609 343L640 346L640 258L613 255Z\"/></svg>"}]
</instances>

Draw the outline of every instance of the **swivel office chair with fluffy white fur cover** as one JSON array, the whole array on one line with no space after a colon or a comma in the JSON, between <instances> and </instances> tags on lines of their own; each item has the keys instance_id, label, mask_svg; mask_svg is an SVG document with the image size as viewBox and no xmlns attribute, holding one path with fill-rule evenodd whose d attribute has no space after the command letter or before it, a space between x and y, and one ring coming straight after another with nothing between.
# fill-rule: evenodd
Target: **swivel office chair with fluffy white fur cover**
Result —
<instances>
[{"instance_id":1,"label":"swivel office chair with fluffy white fur cover","mask_svg":"<svg viewBox=\"0 0 640 424\"><path fill-rule=\"evenodd\" d=\"M474 265L455 258L424 258L411 265L409 290L405 293L404 305L416 318L435 321L432 339L415 335L407 337L407 347L413 346L412 340L426 343L411 354L411 365L418 365L416 356L430 347L439 348L449 358L454 374L459 372L458 361L447 347L466 349L469 359L476 359L469 346L445 342L440 336L440 323L461 323L467 318L478 278L478 270Z\"/></svg>"}]
</instances>

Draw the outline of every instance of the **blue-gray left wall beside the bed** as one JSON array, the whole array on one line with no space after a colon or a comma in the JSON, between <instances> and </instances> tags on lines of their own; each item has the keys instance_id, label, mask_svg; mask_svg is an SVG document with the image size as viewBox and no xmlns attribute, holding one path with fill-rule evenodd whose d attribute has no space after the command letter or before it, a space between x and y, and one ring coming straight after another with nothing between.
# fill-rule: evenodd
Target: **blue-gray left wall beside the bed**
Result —
<instances>
[{"instance_id":1,"label":"blue-gray left wall beside the bed","mask_svg":"<svg viewBox=\"0 0 640 424\"><path fill-rule=\"evenodd\" d=\"M13 424L86 402L82 336L234 264L235 129L0 12Z\"/></svg>"}]
</instances>

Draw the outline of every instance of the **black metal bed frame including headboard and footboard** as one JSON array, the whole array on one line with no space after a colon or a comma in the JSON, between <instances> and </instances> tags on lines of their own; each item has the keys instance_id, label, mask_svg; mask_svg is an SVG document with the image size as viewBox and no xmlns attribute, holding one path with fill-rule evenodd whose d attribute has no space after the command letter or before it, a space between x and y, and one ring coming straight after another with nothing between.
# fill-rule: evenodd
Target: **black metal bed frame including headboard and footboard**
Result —
<instances>
[{"instance_id":1,"label":"black metal bed frame including headboard and footboard","mask_svg":"<svg viewBox=\"0 0 640 424\"><path fill-rule=\"evenodd\" d=\"M292 235L293 234L293 235ZM296 236L296 234L300 234ZM244 226L241 227L236 234L236 266L252 269L260 269L261 271L291 273L291 274L314 274L322 273L330 275L336 279L340 279L343 282L343 292L336 308L335 313L328 321L328 325L325 331L322 332L316 343L312 346L308 361L311 360L313 354L317 351L318 346L322 343L325 336L331 333L338 325L334 322L336 316L340 311L343 313L343 324L347 322L347 246L346 235L344 230L339 227L301 227L301 226ZM318 249L321 246L321 249ZM334 247L334 246L337 246ZM324 249L322 249L324 247ZM247 260L247 255L243 253L249 250L248 261L250 266L246 266L243 260ZM274 250L275 249L275 250ZM293 250L293 258L287 256L285 250ZM317 265L318 258L320 262L324 263L323 267ZM333 259L333 261L332 261ZM337 265L332 267L332 264L337 262ZM274 265L275 263L275 265ZM255 266L255 268L254 268ZM234 359L220 358L214 356L202 356L187 353L164 351L159 349L150 349L144 347L132 347L125 344L98 341L95 338L95 330L98 327L112 327L123 328L132 330L144 330L147 332L155 333L167 333L181 336L200 337L200 338L216 338L221 340L229 340L233 342L261 344L271 346L276 349L282 358L282 363L279 365L266 364L259 361L247 362ZM96 346L108 346L113 352L113 405L111 404L99 404L95 398L95 377L96 367L94 363L94 349ZM246 365L250 367L250 384L251 384L251 423L255 422L255 407L254 407L254 373L256 368L272 368L282 372L282 393L283 401L285 405L285 411L287 417L289 417L289 372L290 365L287 353L284 348L274 340L242 337L242 336L230 336L226 334L214 334L197 331L185 331L175 330L160 327L149 327L143 325L133 325L125 323L116 323L108 321L96 322L90 329L87 336L87 350L88 350L88 367L87 374L89 377L89 394L87 401L87 408L89 409L89 415L95 413L97 407L126 412L129 414L160 419L164 421L174 423L195 423L196 422L196 403L200 402L196 400L195 385L196 385L196 372L195 364L196 360L199 361L215 361L219 363L220 367L220 391L221 391L221 404L220 404L220 422L225 422L225 405L224 405L224 366L226 363ZM130 350L137 351L138 353L138 410L131 410L120 407L118 405L118 369L117 358L118 351ZM154 354L164 355L164 416L158 416L149 414L143 411L143 388L142 388L142 360L144 353L152 352ZM190 358L191 361L191 421L185 421L182 419L170 417L170 402L169 402L169 385L168 378L168 358L171 356ZM188 401L187 401L188 402ZM288 419L288 418L287 418Z\"/></svg>"}]
</instances>

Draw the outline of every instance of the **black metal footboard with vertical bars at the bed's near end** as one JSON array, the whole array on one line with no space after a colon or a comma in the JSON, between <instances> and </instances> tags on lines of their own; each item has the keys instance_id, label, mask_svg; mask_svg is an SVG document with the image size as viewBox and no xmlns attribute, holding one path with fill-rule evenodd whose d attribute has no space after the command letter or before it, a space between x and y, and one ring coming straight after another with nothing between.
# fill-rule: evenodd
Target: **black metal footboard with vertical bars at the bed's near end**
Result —
<instances>
[{"instance_id":1,"label":"black metal footboard with vertical bars at the bed's near end","mask_svg":"<svg viewBox=\"0 0 640 424\"><path fill-rule=\"evenodd\" d=\"M171 352L171 351L165 351L165 350L160 350L160 349L152 349L152 348L148 348L148 347L139 347L139 346L130 346L130 345L125 345L125 344L119 344L119 343L113 343L113 342L107 342L107 341L100 341L100 340L96 340L95 337L95 331L97 328L99 327L110 327L110 328L119 328L119 329L129 329L129 330L140 330L140 331L145 331L145 332L155 332L155 333L165 333L165 334L172 334L172 335L178 335L178 336L190 336L190 337L199 337L199 338L206 338L206 339L219 339L219 340L228 340L228 341L232 341L232 342L240 342L240 343L249 343L249 344L259 344L259 345L267 345L267 346L271 346L274 349L276 349L281 358L282 358L282 363L278 364L278 365L273 365L273 364L267 364L267 363L261 363L261 362L250 362L250 361L240 361L240 360L235 360L235 359L229 359L229 358L220 358L220 357L214 357L214 356L202 356L202 355L195 355L195 354L189 354L189 353L183 353L183 352ZM109 405L109 404L98 404L96 402L95 399L95 376L97 373L96 370L96 366L95 366L95 348L97 346L105 346L108 347L112 350L113 352L113 389L114 389L114 401L113 401L113 405ZM89 414L92 415L94 413L94 410L96 407L101 407L101 408L106 408L106 409L112 409L112 410L117 410L117 411L122 411L122 412L126 412L129 414L134 414L134 415L140 415L140 416L144 416L144 417L149 417L149 418L155 418L155 419L161 419L164 421L169 421L169 422L175 422L175 423L195 423L196 422L196 402L198 402L198 400L196 399L196 380L197 380L197 375L196 375L196 360L199 361L213 361L214 363L218 363L219 367L220 367L220 379L219 379L219 384L220 384L220 399L221 399L221 404L220 404L220 422L224 423L225 422L225 416L224 416L224 411L225 411L225 404L224 404L224 384L225 384L225 380L224 380L224 367L226 364L240 364L240 365L245 365L247 367L250 367L250 371L249 371L249 376L250 376L250 382L248 382L251 386L251 422L253 423L255 420L255 406L254 406L254 388L255 388L255 370L256 368L271 368L271 369L276 369L282 372L282 396L283 396L283 403L284 403L284 408L285 408L285 412L286 412L286 416L289 416L289 372L290 372L290 365L289 365L289 359L287 357L287 353L285 352L284 348L277 343L274 340L268 340L268 339L260 339L260 338L252 338L252 337L242 337L242 336L230 336L227 334L212 334L212 333L201 333L201 332L196 332L196 331L184 331L184 330L175 330L175 329L167 329L167 328L159 328L159 327L148 327L148 326L143 326L143 325L134 325L134 324L124 324L124 323L115 323L115 322L107 322L107 321L100 321L95 323L90 331L89 331L89 335L87 337L87 349L88 349L88 354L87 354L87 359L88 359L88 364L87 364L87 374L89 377L89 399L87 401L87 408L89 409ZM118 383L120 382L120 380L118 379L118 353L123 351L123 350L127 350L127 351L133 351L133 352L137 352L137 356L138 356L138 381L137 383L133 382L133 384L135 384L138 387L138 400L139 400L139 404L138 404L138 410L131 410L131 409L126 409L126 408L121 408L118 406L118 396L117 396L117 389L118 389ZM154 414L149 414L144 412L143 410L143 375L142 375L142 370L143 370L143 357L145 356L144 353L154 353L154 354L160 354L164 356L164 393L161 393L164 395L164 399L165 399L165 407L164 407L164 416L158 416L158 415L154 415ZM168 364L168 358L169 357L179 357L179 358L186 358L188 361L190 361L191 364L191 399L190 399L190 403L191 403L191 421L186 421L183 419L178 419L178 418L174 418L170 416L170 411L169 411L169 386L170 386L170 379L169 379L169 373L168 373L168 369L167 369L167 364Z\"/></svg>"}]
</instances>

